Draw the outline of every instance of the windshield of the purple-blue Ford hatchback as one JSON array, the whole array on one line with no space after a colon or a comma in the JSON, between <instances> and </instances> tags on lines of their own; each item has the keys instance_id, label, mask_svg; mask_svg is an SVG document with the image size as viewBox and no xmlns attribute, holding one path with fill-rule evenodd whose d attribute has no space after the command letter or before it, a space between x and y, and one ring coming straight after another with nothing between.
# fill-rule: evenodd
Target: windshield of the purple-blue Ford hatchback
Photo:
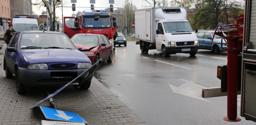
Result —
<instances>
[{"instance_id":1,"label":"windshield of the purple-blue Ford hatchback","mask_svg":"<svg viewBox=\"0 0 256 125\"><path fill-rule=\"evenodd\" d=\"M24 33L21 49L76 49L69 37L59 33Z\"/></svg>"}]
</instances>

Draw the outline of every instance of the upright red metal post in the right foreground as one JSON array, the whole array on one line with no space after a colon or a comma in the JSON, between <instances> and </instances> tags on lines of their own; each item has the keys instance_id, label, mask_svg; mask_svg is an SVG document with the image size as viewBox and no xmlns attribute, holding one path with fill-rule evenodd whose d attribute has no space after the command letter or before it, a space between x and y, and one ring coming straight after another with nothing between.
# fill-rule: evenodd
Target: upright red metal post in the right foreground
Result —
<instances>
[{"instance_id":1,"label":"upright red metal post in the right foreground","mask_svg":"<svg viewBox=\"0 0 256 125\"><path fill-rule=\"evenodd\" d=\"M238 54L242 50L242 37L244 15L237 19L237 30L229 31L227 35L227 117L225 121L241 121L237 118L237 71Z\"/></svg>"}]
</instances>

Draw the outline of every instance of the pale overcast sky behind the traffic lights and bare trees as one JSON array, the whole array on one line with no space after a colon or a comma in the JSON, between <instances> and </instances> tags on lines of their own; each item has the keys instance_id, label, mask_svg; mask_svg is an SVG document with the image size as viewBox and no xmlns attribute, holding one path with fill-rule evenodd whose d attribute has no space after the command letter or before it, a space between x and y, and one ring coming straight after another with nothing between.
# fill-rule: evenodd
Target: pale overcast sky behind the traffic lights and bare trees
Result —
<instances>
[{"instance_id":1,"label":"pale overcast sky behind the traffic lights and bare trees","mask_svg":"<svg viewBox=\"0 0 256 125\"><path fill-rule=\"evenodd\" d=\"M35 3L40 0L32 0L32 3ZM108 3L109 0L95 0L94 7L97 9L97 7L109 7L110 4ZM138 9L149 7L150 5L145 0L130 0ZM148 0L149 2L153 3L152 0ZM63 6L72 6L71 0L63 0ZM70 16L73 13L77 13L78 11L84 11L84 10L90 10L90 0L77 0L76 3L76 11L73 12L70 7L64 7L64 17ZM125 0L115 0L115 4L113 4L114 7L123 7L125 5ZM84 8L79 8L84 7ZM88 8L86 8L88 7ZM98 8L98 9L104 9L104 8ZM40 15L42 14L42 11L45 11L45 7L39 7L39 6L33 6L33 12ZM56 10L57 16L61 18L62 12L61 8Z\"/></svg>"}]
</instances>

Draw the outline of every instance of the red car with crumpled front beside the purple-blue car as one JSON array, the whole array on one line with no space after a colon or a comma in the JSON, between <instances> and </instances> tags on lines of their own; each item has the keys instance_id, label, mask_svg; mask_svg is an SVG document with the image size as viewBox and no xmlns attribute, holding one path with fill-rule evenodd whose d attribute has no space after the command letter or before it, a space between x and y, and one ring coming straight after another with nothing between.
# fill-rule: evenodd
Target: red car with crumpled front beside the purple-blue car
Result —
<instances>
[{"instance_id":1,"label":"red car with crumpled front beside the purple-blue car","mask_svg":"<svg viewBox=\"0 0 256 125\"><path fill-rule=\"evenodd\" d=\"M105 35L79 33L73 35L72 42L77 48L90 58L92 63L98 59L107 59L108 63L113 59L113 47Z\"/></svg>"}]
</instances>

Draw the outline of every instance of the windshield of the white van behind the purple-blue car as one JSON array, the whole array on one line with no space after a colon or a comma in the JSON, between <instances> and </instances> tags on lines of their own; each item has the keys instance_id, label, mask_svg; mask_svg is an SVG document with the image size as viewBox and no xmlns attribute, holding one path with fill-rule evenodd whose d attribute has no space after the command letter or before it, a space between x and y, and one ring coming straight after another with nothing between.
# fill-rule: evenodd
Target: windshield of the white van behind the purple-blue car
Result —
<instances>
[{"instance_id":1,"label":"windshield of the white van behind the purple-blue car","mask_svg":"<svg viewBox=\"0 0 256 125\"><path fill-rule=\"evenodd\" d=\"M16 31L38 30L37 24L12 24Z\"/></svg>"}]
</instances>

